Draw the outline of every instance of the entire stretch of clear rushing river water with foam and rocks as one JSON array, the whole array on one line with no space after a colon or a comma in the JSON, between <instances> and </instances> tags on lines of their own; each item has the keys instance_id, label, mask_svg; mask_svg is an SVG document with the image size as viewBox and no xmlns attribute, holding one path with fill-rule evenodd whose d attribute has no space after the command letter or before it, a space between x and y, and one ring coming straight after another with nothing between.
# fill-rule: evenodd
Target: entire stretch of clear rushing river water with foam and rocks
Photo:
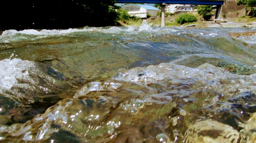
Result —
<instances>
[{"instance_id":1,"label":"entire stretch of clear rushing river water with foam and rocks","mask_svg":"<svg viewBox=\"0 0 256 143\"><path fill-rule=\"evenodd\" d=\"M3 31L0 141L255 142L255 33Z\"/></svg>"}]
</instances>

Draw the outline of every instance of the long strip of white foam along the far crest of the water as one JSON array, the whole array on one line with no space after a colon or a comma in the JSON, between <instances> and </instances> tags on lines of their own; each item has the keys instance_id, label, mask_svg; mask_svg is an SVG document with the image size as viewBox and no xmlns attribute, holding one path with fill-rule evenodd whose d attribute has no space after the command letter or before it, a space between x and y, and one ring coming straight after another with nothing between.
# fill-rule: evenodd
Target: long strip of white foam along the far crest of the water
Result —
<instances>
[{"instance_id":1,"label":"long strip of white foam along the far crest of the water","mask_svg":"<svg viewBox=\"0 0 256 143\"><path fill-rule=\"evenodd\" d=\"M127 26L127 27L84 27L84 28L69 28L69 29L53 29L47 30L42 29L40 31L35 29L25 29L21 31L17 30L5 30L2 35L0 35L0 43L10 43L17 41L27 41L26 35L33 35L33 39L44 38L45 36L51 35L67 35L73 32L102 32L102 33L113 33L113 34L138 34L140 32L147 34L159 34L159 31L162 32L173 32L177 31L172 28L166 27L152 27L151 24L144 21L139 27Z\"/></svg>"}]
</instances>

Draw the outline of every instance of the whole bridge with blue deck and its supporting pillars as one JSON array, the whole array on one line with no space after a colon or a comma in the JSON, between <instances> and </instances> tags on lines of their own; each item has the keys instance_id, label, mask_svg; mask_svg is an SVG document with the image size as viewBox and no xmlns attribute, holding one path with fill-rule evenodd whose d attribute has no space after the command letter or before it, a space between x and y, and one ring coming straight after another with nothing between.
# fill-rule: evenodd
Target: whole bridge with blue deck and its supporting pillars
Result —
<instances>
[{"instance_id":1,"label":"whole bridge with blue deck and its supporting pillars","mask_svg":"<svg viewBox=\"0 0 256 143\"><path fill-rule=\"evenodd\" d=\"M161 15L161 27L165 26L165 4L198 4L198 5L216 5L215 19L219 18L221 6L224 4L224 0L117 0L117 3L161 3L162 15Z\"/></svg>"}]
</instances>

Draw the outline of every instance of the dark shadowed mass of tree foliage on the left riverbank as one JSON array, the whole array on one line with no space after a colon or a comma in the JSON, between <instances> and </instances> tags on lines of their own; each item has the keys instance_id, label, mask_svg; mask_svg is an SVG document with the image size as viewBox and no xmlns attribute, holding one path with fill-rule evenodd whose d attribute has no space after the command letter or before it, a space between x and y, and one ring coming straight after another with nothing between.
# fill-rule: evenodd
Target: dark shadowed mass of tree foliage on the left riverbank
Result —
<instances>
[{"instance_id":1,"label":"dark shadowed mass of tree foliage on the left riverbank","mask_svg":"<svg viewBox=\"0 0 256 143\"><path fill-rule=\"evenodd\" d=\"M116 0L1 1L0 30L66 29L115 25ZM12 12L11 12L12 10ZM13 14L14 12L14 14Z\"/></svg>"}]
</instances>

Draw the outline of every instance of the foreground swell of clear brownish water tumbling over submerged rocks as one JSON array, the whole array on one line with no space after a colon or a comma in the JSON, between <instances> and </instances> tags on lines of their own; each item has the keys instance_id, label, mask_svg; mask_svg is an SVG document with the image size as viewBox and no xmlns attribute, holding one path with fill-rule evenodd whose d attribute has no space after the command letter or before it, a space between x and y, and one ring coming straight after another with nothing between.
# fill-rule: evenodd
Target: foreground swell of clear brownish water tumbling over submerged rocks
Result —
<instances>
[{"instance_id":1,"label":"foreground swell of clear brownish water tumbling over submerged rocks","mask_svg":"<svg viewBox=\"0 0 256 143\"><path fill-rule=\"evenodd\" d=\"M24 124L2 126L0 135L24 142L59 140L62 134L72 142L237 142L241 130L249 140L254 122L238 122L256 112L255 83L255 75L208 63L132 68L112 80L87 83L74 98Z\"/></svg>"}]
</instances>

